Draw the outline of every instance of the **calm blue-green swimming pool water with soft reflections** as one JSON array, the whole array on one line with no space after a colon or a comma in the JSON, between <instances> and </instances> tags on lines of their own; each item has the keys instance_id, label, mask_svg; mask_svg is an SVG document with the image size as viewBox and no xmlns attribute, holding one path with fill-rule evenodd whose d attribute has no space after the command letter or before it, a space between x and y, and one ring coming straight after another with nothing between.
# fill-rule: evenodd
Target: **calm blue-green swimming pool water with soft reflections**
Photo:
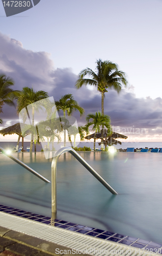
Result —
<instances>
[{"instance_id":1,"label":"calm blue-green swimming pool water with soft reflections","mask_svg":"<svg viewBox=\"0 0 162 256\"><path fill-rule=\"evenodd\" d=\"M58 219L161 243L161 154L79 153L119 195L113 196L69 153L58 162ZM14 154L47 179L51 159ZM0 202L50 217L51 184L0 154Z\"/></svg>"}]
</instances>

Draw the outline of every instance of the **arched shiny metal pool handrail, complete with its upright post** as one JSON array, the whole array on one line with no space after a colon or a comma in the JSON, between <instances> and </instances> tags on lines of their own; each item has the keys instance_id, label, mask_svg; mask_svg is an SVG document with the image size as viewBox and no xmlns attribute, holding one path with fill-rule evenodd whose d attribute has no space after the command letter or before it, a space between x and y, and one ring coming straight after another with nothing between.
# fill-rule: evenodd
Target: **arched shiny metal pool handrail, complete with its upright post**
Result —
<instances>
[{"instance_id":1,"label":"arched shiny metal pool handrail, complete with its upright post","mask_svg":"<svg viewBox=\"0 0 162 256\"><path fill-rule=\"evenodd\" d=\"M51 194L52 194L52 214L56 214L57 212L57 161L62 153L69 152L73 155L83 166L86 167L87 170L102 183L113 195L118 195L118 193L82 158L80 155L73 150L71 147L62 147L60 150L56 152L56 156L52 159L51 164Z\"/></svg>"}]
</instances>

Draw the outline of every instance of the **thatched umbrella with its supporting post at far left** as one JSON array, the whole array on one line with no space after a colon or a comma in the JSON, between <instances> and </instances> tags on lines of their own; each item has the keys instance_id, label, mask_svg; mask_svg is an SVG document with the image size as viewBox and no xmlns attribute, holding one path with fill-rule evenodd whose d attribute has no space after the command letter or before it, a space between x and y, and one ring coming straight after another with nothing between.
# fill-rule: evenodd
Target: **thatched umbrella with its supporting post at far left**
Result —
<instances>
[{"instance_id":1,"label":"thatched umbrella with its supporting post at far left","mask_svg":"<svg viewBox=\"0 0 162 256\"><path fill-rule=\"evenodd\" d=\"M25 125L24 123L21 125ZM22 138L22 150L23 150L23 137L25 137L26 135L29 135L31 132L28 130L25 132L25 134L21 133L21 126L20 123L15 123L14 125L11 125L7 128L4 128L2 130L0 130L0 134L2 134L3 136L9 134L17 134L18 135L18 141L17 141L17 146L16 146L16 150L18 149L18 145L19 145L19 141L20 141L20 137Z\"/></svg>"}]
</instances>

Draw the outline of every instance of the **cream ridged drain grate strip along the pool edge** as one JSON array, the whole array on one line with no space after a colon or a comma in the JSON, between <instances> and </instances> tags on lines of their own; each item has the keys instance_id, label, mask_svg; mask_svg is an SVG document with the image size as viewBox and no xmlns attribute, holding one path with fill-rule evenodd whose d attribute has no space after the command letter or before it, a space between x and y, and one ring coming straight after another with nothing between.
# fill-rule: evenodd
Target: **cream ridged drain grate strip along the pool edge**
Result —
<instances>
[{"instance_id":1,"label":"cream ridged drain grate strip along the pool edge","mask_svg":"<svg viewBox=\"0 0 162 256\"><path fill-rule=\"evenodd\" d=\"M55 226L26 220L21 217L12 216L0 212L0 226L28 234L55 244L73 249L73 252L81 252L91 255L142 255L151 256L152 253L144 249L127 246L112 241L105 241L100 238L85 236L67 229L60 229ZM73 254L75 254L73 253ZM158 254L158 253L157 253Z\"/></svg>"}]
</instances>

